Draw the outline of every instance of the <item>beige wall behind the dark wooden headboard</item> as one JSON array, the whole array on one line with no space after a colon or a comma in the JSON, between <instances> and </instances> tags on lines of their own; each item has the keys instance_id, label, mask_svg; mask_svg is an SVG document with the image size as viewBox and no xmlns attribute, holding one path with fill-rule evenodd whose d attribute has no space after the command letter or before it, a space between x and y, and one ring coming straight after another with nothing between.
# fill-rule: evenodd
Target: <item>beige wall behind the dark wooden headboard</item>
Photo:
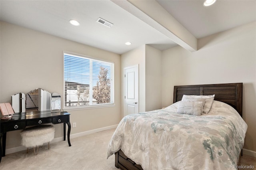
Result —
<instances>
[{"instance_id":1,"label":"beige wall behind the dark wooden headboard","mask_svg":"<svg viewBox=\"0 0 256 170\"><path fill-rule=\"evenodd\" d=\"M202 38L195 52L180 46L162 51L162 106L172 104L174 85L240 82L244 148L256 151L256 22Z\"/></svg>"}]
</instances>

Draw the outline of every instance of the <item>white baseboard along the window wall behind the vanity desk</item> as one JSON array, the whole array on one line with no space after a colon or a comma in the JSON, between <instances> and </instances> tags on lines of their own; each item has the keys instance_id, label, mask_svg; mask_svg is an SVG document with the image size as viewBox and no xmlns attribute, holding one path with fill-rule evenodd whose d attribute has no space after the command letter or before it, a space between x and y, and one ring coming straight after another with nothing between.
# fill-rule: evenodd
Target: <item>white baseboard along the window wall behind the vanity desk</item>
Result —
<instances>
[{"instance_id":1,"label":"white baseboard along the window wall behind the vanity desk","mask_svg":"<svg viewBox=\"0 0 256 170\"><path fill-rule=\"evenodd\" d=\"M97 128L97 129L93 129L93 130L88 130L88 131L85 131L85 132L80 132L80 133L76 133L76 134L70 134L70 139L71 138L77 138L77 137L80 137L80 136L85 136L85 135L88 135L88 134L93 134L93 133L97 133L97 132L102 132L104 130L109 130L109 129L112 129L112 128L116 128L118 125L112 125L112 126L108 126L108 127L103 127L103 128ZM55 142L60 142L63 140L63 136L62 137L59 137L59 138L54 138L51 143L55 143ZM68 140L68 136L66 136L66 141ZM68 141L67 141L68 143ZM72 145L72 144L71 144ZM12 154L12 153L15 153L15 152L20 152L22 150L26 150L27 148L25 146L18 146L18 147L14 147L14 148L9 148L9 149L6 149L5 150L5 154Z\"/></svg>"}]
</instances>

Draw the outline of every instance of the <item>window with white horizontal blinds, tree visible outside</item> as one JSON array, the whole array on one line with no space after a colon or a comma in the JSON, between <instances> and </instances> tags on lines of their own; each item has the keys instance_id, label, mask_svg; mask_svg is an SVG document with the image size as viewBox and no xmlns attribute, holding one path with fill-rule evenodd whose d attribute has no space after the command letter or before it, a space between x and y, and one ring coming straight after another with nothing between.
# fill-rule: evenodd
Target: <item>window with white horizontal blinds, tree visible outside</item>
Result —
<instances>
[{"instance_id":1,"label":"window with white horizontal blinds, tree visible outside","mask_svg":"<svg viewBox=\"0 0 256 170\"><path fill-rule=\"evenodd\" d=\"M114 63L64 53L64 108L114 104Z\"/></svg>"}]
</instances>

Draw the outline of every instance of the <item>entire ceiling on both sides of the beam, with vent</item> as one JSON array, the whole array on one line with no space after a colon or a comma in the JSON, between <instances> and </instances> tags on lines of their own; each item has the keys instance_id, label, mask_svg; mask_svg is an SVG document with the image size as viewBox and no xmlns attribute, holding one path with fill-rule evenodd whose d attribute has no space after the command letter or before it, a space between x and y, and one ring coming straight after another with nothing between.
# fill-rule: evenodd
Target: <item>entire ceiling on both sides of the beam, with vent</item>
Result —
<instances>
[{"instance_id":1,"label":"entire ceiling on both sides of the beam, with vent","mask_svg":"<svg viewBox=\"0 0 256 170\"><path fill-rule=\"evenodd\" d=\"M161 18L152 17L154 24L149 24L147 10L126 0L122 0L125 2L122 6L120 1L0 0L0 20L118 54L143 44L160 50L180 45L168 36L175 32L169 28L159 29L165 27L159 24ZM217 0L209 7L202 5L203 0L156 0L156 3L160 5L151 9L153 15L167 11L181 24L180 30L187 30L195 39L256 21L256 0ZM140 16L143 13L147 19L143 20L134 11L139 11ZM99 17L114 25L108 28L99 24L96 22ZM80 26L69 24L71 19L79 21ZM169 20L165 22L168 24ZM157 24L159 26L154 27ZM132 45L125 45L125 42L132 42Z\"/></svg>"}]
</instances>

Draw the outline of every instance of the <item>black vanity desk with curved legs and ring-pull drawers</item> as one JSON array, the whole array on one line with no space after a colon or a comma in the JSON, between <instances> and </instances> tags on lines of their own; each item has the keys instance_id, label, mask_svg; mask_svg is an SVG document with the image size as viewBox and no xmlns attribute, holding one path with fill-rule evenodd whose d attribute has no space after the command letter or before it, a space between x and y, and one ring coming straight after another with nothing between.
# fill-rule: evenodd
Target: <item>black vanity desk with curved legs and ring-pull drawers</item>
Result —
<instances>
[{"instance_id":1,"label":"black vanity desk with curved legs and ring-pull drawers","mask_svg":"<svg viewBox=\"0 0 256 170\"><path fill-rule=\"evenodd\" d=\"M64 140L66 140L66 124L68 125L68 145L70 144L70 113L56 112L50 113L47 111L29 112L29 113L15 113L9 119L0 119L0 162L1 157L5 156L6 146L6 132L12 130L21 130L27 126L41 125L45 123L59 124L63 123ZM2 144L1 144L2 139ZM1 147L2 146L2 147Z\"/></svg>"}]
</instances>

